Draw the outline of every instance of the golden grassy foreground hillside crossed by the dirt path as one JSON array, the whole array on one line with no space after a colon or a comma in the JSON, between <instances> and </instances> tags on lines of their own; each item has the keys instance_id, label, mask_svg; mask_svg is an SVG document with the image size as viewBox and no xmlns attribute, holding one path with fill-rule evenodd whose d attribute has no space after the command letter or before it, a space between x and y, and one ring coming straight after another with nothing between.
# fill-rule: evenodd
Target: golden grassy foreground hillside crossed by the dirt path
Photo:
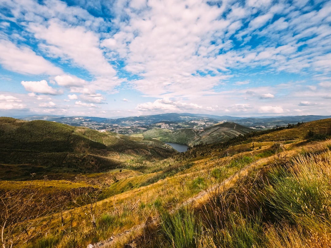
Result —
<instances>
[{"instance_id":1,"label":"golden grassy foreground hillside crossed by the dirt path","mask_svg":"<svg viewBox=\"0 0 331 248\"><path fill-rule=\"evenodd\" d=\"M0 181L3 246L330 247L330 135L325 119L196 145L143 168Z\"/></svg>"}]
</instances>

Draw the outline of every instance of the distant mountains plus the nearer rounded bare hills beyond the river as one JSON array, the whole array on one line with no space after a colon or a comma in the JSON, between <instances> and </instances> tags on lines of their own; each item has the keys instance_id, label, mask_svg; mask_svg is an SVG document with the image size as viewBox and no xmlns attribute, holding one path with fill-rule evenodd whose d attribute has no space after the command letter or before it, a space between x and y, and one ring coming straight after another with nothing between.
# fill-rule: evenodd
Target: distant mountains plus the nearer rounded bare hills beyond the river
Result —
<instances>
[{"instance_id":1,"label":"distant mountains plus the nearer rounded bare hills beyond the river","mask_svg":"<svg viewBox=\"0 0 331 248\"><path fill-rule=\"evenodd\" d=\"M244 135L254 130L271 129L330 117L303 115L245 118L227 115L166 113L117 119L52 115L22 116L20 119L48 120L70 126L83 126L99 131L193 146L225 142L239 134Z\"/></svg>"}]
</instances>

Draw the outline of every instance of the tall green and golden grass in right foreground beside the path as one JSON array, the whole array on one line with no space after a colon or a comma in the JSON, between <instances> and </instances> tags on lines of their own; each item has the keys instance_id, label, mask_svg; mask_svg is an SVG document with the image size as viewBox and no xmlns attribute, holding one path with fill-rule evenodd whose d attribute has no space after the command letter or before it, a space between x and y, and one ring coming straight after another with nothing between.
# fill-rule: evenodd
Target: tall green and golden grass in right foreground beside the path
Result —
<instances>
[{"instance_id":1,"label":"tall green and golden grass in right foreground beside the path","mask_svg":"<svg viewBox=\"0 0 331 248\"><path fill-rule=\"evenodd\" d=\"M331 152L283 162L213 195L195 246L331 247Z\"/></svg>"}]
</instances>

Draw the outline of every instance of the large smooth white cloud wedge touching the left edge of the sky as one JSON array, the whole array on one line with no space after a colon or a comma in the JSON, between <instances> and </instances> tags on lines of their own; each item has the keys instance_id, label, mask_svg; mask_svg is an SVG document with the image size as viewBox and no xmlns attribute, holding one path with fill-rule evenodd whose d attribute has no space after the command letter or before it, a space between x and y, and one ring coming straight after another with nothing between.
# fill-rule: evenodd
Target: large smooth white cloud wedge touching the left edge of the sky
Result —
<instances>
[{"instance_id":1,"label":"large smooth white cloud wedge touching the left edge of the sky","mask_svg":"<svg viewBox=\"0 0 331 248\"><path fill-rule=\"evenodd\" d=\"M43 57L36 55L30 48L17 47L10 41L0 39L0 54L0 64L10 71L35 75L62 73L60 68L54 66Z\"/></svg>"}]
</instances>

